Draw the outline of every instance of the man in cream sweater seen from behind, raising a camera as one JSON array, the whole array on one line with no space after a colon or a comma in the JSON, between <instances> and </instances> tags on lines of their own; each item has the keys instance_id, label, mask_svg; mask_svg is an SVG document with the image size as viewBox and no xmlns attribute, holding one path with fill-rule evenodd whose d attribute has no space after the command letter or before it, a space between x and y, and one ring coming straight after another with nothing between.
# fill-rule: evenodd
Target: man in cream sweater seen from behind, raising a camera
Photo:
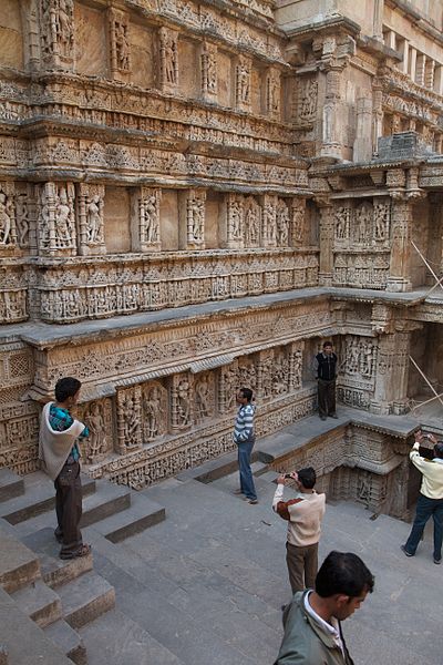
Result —
<instances>
[{"instance_id":1,"label":"man in cream sweater seen from behind, raising a camera","mask_svg":"<svg viewBox=\"0 0 443 665\"><path fill-rule=\"evenodd\" d=\"M286 480L293 480L298 492L295 499L284 501ZM292 593L313 586L318 567L318 543L326 495L313 489L316 471L312 467L277 478L272 510L288 522L286 563Z\"/></svg>"}]
</instances>

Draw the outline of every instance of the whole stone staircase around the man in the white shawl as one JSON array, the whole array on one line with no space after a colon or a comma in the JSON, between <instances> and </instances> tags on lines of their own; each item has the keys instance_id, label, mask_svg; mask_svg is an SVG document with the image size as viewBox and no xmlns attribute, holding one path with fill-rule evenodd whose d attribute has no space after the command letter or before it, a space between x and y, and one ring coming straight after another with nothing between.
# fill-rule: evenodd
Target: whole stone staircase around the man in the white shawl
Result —
<instances>
[{"instance_id":1,"label":"whole stone staircase around the man in the white shawl","mask_svg":"<svg viewBox=\"0 0 443 665\"><path fill-rule=\"evenodd\" d=\"M82 483L82 528L93 524L110 543L165 519L164 508L128 488L86 477ZM28 649L35 657L30 663L38 662L35 645L40 645L44 663L55 654L54 663L62 664L64 654L85 665L86 648L79 630L115 606L113 585L93 570L93 552L69 561L59 557L53 510L53 483L43 473L19 478L0 470L0 615L9 615L12 606L19 623L25 625L19 635L0 621L0 645L8 665L24 664L27 635L32 635ZM32 624L40 628L38 637Z\"/></svg>"}]
</instances>

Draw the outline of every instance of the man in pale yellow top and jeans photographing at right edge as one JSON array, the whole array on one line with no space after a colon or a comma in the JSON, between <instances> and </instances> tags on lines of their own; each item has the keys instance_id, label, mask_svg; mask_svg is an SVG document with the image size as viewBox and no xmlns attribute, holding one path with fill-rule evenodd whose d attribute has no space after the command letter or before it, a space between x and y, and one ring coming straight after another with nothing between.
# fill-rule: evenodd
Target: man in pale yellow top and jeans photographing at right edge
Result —
<instances>
[{"instance_id":1,"label":"man in pale yellow top and jeans photographing at right edge","mask_svg":"<svg viewBox=\"0 0 443 665\"><path fill-rule=\"evenodd\" d=\"M429 439L434 444L434 458L427 460L420 454L420 444ZM409 453L411 462L422 473L422 484L416 502L415 519L411 533L404 545L401 545L406 556L413 556L423 535L427 520L434 520L434 563L442 563L443 540L443 442L433 434L415 432L415 443Z\"/></svg>"}]
</instances>

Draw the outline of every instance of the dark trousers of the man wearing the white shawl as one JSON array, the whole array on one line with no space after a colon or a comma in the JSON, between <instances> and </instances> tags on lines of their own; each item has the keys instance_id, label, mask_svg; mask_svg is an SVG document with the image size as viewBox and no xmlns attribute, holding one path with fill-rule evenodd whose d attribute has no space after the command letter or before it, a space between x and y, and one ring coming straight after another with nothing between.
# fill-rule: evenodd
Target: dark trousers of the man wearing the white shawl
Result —
<instances>
[{"instance_id":1,"label":"dark trousers of the man wearing the white shawl","mask_svg":"<svg viewBox=\"0 0 443 665\"><path fill-rule=\"evenodd\" d=\"M62 539L61 552L74 552L82 544L80 520L82 516L82 481L80 463L64 464L54 481L55 535Z\"/></svg>"}]
</instances>

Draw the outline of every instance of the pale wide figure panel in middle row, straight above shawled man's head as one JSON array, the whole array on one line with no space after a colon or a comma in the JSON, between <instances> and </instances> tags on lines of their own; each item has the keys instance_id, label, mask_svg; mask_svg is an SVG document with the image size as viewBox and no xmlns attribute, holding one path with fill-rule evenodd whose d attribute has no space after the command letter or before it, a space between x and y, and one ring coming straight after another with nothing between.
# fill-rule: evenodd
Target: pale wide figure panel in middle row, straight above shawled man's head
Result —
<instances>
[{"instance_id":1,"label":"pale wide figure panel in middle row, straight above shawled man's head","mask_svg":"<svg viewBox=\"0 0 443 665\"><path fill-rule=\"evenodd\" d=\"M75 255L75 191L72 183L39 187L38 242L41 255Z\"/></svg>"}]
</instances>

